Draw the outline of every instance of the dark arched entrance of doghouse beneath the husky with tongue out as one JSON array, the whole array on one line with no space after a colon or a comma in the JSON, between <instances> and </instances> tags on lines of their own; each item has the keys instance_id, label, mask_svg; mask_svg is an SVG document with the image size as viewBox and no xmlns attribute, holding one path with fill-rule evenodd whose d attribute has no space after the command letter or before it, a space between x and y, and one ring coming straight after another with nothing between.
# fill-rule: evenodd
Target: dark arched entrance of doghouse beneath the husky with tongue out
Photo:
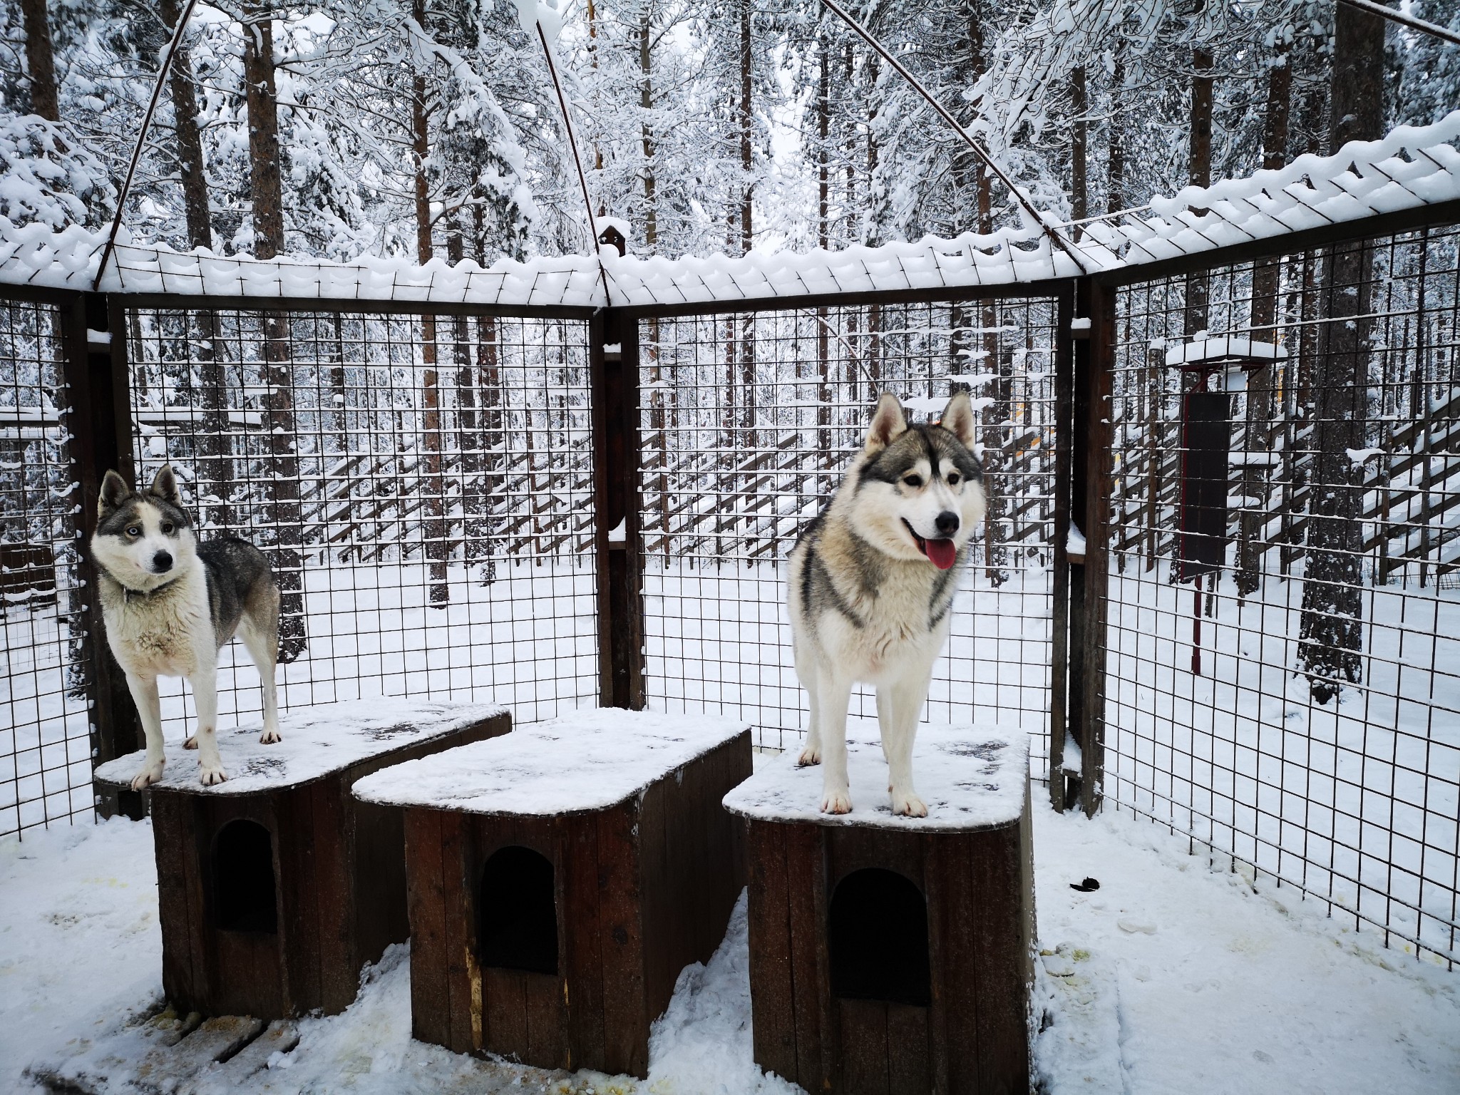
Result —
<instances>
[{"instance_id":1,"label":"dark arched entrance of doghouse beneath the husky with tongue out","mask_svg":"<svg viewBox=\"0 0 1460 1095\"><path fill-rule=\"evenodd\" d=\"M930 1004L927 901L917 886L892 870L854 870L837 883L829 920L832 994Z\"/></svg>"}]
</instances>

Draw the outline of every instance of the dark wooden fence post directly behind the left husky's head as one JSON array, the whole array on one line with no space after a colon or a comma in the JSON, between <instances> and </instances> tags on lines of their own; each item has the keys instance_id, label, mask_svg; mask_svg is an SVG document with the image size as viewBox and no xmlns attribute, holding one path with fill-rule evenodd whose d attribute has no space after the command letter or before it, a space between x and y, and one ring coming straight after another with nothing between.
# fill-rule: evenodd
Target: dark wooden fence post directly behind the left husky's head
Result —
<instances>
[{"instance_id":1,"label":"dark wooden fence post directly behind the left husky's head","mask_svg":"<svg viewBox=\"0 0 1460 1095\"><path fill-rule=\"evenodd\" d=\"M108 469L115 469L128 483L136 482L126 311L121 301L107 293L80 293L63 307L61 326L69 404L66 431L70 434L72 473L80 483L77 527L86 577L83 648L89 663L86 680L95 768L143 746L137 708L121 667L107 647L96 564L91 558L102 477ZM123 813L136 819L143 816L145 807L136 791L98 787L96 812L102 818Z\"/></svg>"}]
</instances>

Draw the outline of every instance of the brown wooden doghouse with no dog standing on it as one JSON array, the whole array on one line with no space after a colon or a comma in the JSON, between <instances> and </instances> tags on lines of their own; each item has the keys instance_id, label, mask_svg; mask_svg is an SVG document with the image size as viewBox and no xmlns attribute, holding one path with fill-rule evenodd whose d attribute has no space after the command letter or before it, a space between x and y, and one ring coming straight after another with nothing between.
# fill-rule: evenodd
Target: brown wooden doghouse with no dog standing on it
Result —
<instances>
[{"instance_id":1,"label":"brown wooden doghouse with no dog standing on it","mask_svg":"<svg viewBox=\"0 0 1460 1095\"><path fill-rule=\"evenodd\" d=\"M745 886L749 774L743 723L603 708L356 784L406 807L416 1038L642 1077Z\"/></svg>"}]
</instances>

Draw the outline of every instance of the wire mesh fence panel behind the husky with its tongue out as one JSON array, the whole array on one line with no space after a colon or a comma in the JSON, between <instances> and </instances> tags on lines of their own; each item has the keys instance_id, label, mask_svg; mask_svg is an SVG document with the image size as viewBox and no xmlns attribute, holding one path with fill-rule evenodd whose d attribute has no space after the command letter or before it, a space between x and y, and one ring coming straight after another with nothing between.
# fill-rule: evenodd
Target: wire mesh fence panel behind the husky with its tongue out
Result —
<instances>
[{"instance_id":1,"label":"wire mesh fence panel behind the husky with its tongue out","mask_svg":"<svg viewBox=\"0 0 1460 1095\"><path fill-rule=\"evenodd\" d=\"M764 748L806 729L785 555L860 450L879 391L914 420L971 390L988 518L934 669L930 720L1045 740L1057 302L883 304L650 318L641 346L648 702L749 720ZM853 715L875 717L873 694Z\"/></svg>"}]
</instances>

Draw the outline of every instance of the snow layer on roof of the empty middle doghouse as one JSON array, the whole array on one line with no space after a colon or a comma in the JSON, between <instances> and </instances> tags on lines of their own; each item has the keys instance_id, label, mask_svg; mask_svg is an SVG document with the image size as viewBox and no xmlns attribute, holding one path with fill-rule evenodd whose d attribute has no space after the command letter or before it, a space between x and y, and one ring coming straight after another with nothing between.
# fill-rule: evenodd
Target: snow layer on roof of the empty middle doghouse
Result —
<instances>
[{"instance_id":1,"label":"snow layer on roof of the empty middle doghouse","mask_svg":"<svg viewBox=\"0 0 1460 1095\"><path fill-rule=\"evenodd\" d=\"M393 765L359 780L355 796L489 815L602 810L749 733L733 718L588 708Z\"/></svg>"}]
</instances>

